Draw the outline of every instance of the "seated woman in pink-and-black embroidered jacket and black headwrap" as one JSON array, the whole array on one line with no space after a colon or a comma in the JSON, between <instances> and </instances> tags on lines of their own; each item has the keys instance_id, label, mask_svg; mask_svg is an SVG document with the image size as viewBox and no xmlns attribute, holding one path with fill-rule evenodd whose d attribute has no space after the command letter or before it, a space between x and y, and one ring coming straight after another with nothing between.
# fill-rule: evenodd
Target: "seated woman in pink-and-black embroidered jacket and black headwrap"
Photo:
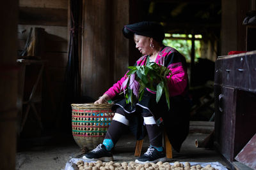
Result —
<instances>
[{"instance_id":1,"label":"seated woman in pink-and-black embroidered jacket and black headwrap","mask_svg":"<svg viewBox=\"0 0 256 170\"><path fill-rule=\"evenodd\" d=\"M156 62L161 66L168 67L172 71L172 76L168 81L170 110L166 104L164 95L156 103L156 92L145 89L140 102L132 105L127 104L125 99L115 103L112 110L115 116L108 128L106 137L102 144L94 150L84 155L83 159L89 160L113 160L111 149L125 131L130 127L137 139L145 136L147 129L150 146L147 152L136 162L158 162L165 161L162 146L163 127L168 129L167 134L173 148L179 152L182 142L188 135L189 113L186 102L186 92L188 91L188 74L186 59L177 50L170 46L164 46L163 27L156 22L138 22L136 24L125 25L123 29L126 38L133 38L136 48L143 54L137 60L135 66L145 66L148 62ZM106 103L109 99L120 94L120 87L127 77L124 76L116 82L113 87L107 90L95 104Z\"/></svg>"}]
</instances>

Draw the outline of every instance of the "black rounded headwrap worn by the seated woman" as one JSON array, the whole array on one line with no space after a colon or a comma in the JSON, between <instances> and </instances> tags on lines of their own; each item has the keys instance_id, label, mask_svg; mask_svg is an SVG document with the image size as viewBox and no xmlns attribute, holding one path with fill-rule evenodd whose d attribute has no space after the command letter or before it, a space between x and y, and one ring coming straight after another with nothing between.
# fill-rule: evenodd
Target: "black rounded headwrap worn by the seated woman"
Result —
<instances>
[{"instance_id":1,"label":"black rounded headwrap worn by the seated woman","mask_svg":"<svg viewBox=\"0 0 256 170\"><path fill-rule=\"evenodd\" d=\"M134 34L138 34L140 36L152 37L159 42L162 42L164 39L163 26L157 22L143 21L125 25L123 28L123 34L126 38L132 38Z\"/></svg>"}]
</instances>

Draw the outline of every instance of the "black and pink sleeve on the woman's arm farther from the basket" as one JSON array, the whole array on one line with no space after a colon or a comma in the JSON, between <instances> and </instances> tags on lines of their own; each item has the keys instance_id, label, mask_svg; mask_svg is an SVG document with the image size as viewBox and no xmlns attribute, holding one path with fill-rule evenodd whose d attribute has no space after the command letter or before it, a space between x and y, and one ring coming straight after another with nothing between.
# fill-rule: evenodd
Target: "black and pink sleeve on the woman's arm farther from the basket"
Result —
<instances>
[{"instance_id":1,"label":"black and pink sleeve on the woman's arm farther from the basket","mask_svg":"<svg viewBox=\"0 0 256 170\"><path fill-rule=\"evenodd\" d=\"M172 76L168 75L170 96L177 96L186 90L188 85L188 73L186 59L179 52L169 53L166 57L166 67L172 71Z\"/></svg>"}]
</instances>

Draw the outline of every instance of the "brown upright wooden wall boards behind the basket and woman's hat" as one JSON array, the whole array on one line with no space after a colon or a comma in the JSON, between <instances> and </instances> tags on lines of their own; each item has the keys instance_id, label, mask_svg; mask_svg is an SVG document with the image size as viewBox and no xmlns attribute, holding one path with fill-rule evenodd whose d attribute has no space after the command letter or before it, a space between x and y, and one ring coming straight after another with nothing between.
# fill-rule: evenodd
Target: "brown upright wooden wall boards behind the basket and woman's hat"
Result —
<instances>
[{"instance_id":1,"label":"brown upright wooden wall boards behind the basket and woman's hat","mask_svg":"<svg viewBox=\"0 0 256 170\"><path fill-rule=\"evenodd\" d=\"M129 40L122 28L129 23L129 1L84 0L81 57L82 96L102 96L124 76Z\"/></svg>"}]
</instances>

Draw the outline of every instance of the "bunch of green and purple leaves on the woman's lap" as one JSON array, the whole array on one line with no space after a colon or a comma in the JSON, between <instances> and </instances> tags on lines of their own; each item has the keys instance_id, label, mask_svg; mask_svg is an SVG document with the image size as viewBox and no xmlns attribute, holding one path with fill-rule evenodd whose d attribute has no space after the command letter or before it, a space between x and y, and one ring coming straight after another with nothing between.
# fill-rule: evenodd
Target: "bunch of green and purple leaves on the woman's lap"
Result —
<instances>
[{"instance_id":1,"label":"bunch of green and purple leaves on the woman's lap","mask_svg":"<svg viewBox=\"0 0 256 170\"><path fill-rule=\"evenodd\" d=\"M155 62L150 62L147 66L130 66L127 73L127 79L121 86L121 91L124 91L126 103L133 104L134 101L141 101L145 88L156 92L156 102L158 103L164 92L166 103L170 109L170 99L168 90L168 78L172 76L171 71L159 66Z\"/></svg>"}]
</instances>

